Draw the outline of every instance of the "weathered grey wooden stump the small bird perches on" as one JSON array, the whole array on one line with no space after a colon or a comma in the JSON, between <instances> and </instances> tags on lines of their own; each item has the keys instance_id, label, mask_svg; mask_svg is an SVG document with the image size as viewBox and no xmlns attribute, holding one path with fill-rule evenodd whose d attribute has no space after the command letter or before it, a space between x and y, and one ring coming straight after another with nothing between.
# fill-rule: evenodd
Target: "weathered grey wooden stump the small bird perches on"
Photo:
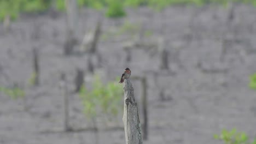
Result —
<instances>
[{"instance_id":1,"label":"weathered grey wooden stump the small bird perches on","mask_svg":"<svg viewBox=\"0 0 256 144\"><path fill-rule=\"evenodd\" d=\"M138 107L133 94L132 83L124 80L124 129L126 144L142 144L141 123L139 122Z\"/></svg>"}]
</instances>

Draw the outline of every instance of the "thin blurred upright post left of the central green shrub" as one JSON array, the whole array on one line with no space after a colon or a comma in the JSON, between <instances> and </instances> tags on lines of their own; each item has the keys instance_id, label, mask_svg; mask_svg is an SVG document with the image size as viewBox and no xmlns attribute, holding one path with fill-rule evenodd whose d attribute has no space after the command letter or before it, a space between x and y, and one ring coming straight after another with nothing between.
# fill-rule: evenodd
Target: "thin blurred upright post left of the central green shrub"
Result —
<instances>
[{"instance_id":1,"label":"thin blurred upright post left of the central green shrub","mask_svg":"<svg viewBox=\"0 0 256 144\"><path fill-rule=\"evenodd\" d=\"M63 107L64 107L64 130L71 131L71 127L69 126L69 112L68 112L68 92L67 92L67 82L66 82L66 75L64 73L61 74L60 80L60 88L61 88L61 95L63 97Z\"/></svg>"}]
</instances>

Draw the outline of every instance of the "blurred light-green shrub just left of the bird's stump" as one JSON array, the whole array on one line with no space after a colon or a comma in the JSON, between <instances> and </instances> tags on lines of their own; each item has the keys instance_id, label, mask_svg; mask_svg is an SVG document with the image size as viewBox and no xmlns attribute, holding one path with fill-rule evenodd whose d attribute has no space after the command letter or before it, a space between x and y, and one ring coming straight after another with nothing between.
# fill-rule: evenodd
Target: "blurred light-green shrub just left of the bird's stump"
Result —
<instances>
[{"instance_id":1,"label":"blurred light-green shrub just left of the bird's stump","mask_svg":"<svg viewBox=\"0 0 256 144\"><path fill-rule=\"evenodd\" d=\"M94 121L97 116L104 115L111 119L118 115L122 110L123 85L119 85L117 81L103 84L100 77L95 75L90 91L84 85L80 88L79 96L86 117Z\"/></svg>"}]
</instances>

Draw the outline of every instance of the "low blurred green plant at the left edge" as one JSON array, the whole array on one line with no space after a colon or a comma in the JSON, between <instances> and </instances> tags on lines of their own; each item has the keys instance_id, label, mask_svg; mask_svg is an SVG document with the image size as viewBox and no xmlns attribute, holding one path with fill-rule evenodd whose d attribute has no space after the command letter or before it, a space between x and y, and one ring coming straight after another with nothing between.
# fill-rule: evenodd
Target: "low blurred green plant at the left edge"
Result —
<instances>
[{"instance_id":1,"label":"low blurred green plant at the left edge","mask_svg":"<svg viewBox=\"0 0 256 144\"><path fill-rule=\"evenodd\" d=\"M8 95L12 99L25 97L24 90L19 87L14 87L14 88L0 87L0 92L4 93L5 95Z\"/></svg>"}]
</instances>

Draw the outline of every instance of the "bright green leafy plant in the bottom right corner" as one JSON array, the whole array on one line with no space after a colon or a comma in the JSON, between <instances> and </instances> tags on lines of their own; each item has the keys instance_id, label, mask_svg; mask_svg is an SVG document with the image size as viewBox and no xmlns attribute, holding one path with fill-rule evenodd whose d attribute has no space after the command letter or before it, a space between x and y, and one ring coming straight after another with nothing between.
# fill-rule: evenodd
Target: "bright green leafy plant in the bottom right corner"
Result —
<instances>
[{"instance_id":1,"label":"bright green leafy plant in the bottom right corner","mask_svg":"<svg viewBox=\"0 0 256 144\"><path fill-rule=\"evenodd\" d=\"M237 132L235 128L231 131L223 129L222 134L214 135L214 139L222 140L225 144L250 144L246 133ZM256 139L251 144L256 144Z\"/></svg>"}]
</instances>

